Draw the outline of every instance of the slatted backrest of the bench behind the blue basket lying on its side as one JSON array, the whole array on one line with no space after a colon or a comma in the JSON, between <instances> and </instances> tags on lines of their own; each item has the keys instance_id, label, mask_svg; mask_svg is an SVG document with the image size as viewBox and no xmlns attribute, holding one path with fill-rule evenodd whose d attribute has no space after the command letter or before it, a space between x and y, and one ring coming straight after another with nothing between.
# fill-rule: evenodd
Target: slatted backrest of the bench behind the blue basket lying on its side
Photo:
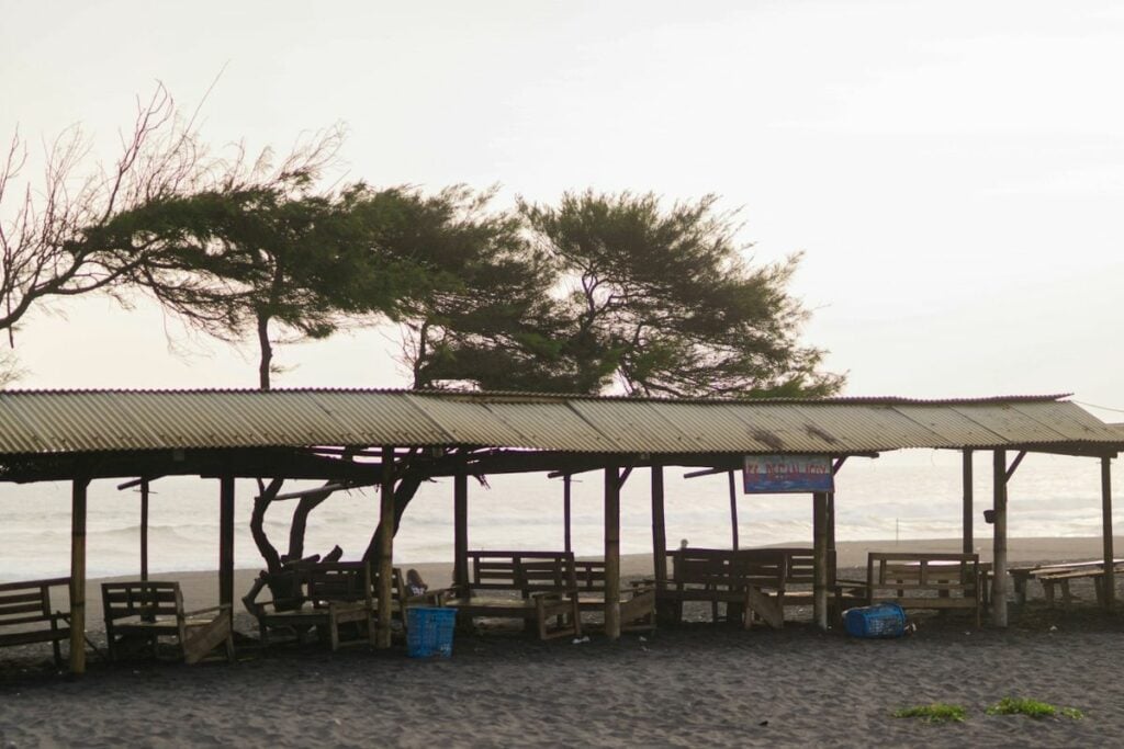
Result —
<instances>
[{"instance_id":1,"label":"slatted backrest of the bench behind the blue basket lying on its side","mask_svg":"<svg viewBox=\"0 0 1124 749\"><path fill-rule=\"evenodd\" d=\"M867 560L867 584L871 593L897 591L897 597L918 593L979 595L979 555L908 554L871 551Z\"/></svg>"}]
</instances>

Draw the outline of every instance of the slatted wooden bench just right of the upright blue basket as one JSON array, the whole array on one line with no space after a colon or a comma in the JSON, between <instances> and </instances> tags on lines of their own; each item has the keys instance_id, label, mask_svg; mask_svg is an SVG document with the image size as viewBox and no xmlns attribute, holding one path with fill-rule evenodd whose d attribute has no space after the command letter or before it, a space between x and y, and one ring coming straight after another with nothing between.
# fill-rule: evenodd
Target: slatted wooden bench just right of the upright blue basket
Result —
<instances>
[{"instance_id":1,"label":"slatted wooden bench just right of the upright blue basket","mask_svg":"<svg viewBox=\"0 0 1124 749\"><path fill-rule=\"evenodd\" d=\"M581 634L572 555L564 551L469 551L469 582L445 593L463 623L522 619L543 640Z\"/></svg>"}]
</instances>

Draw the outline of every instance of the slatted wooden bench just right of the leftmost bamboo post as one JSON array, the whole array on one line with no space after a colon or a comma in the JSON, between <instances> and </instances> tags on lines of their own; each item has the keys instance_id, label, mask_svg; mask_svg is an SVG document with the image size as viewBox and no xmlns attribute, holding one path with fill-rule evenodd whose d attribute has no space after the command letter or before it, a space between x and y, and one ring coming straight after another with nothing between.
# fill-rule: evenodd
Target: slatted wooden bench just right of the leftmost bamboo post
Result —
<instances>
[{"instance_id":1,"label":"slatted wooden bench just right of the leftmost bamboo post","mask_svg":"<svg viewBox=\"0 0 1124 749\"><path fill-rule=\"evenodd\" d=\"M129 639L148 641L155 656L161 637L174 638L188 664L202 660L220 645L226 646L227 660L234 660L230 606L184 611L179 583L102 583L101 604L111 660Z\"/></svg>"}]
</instances>

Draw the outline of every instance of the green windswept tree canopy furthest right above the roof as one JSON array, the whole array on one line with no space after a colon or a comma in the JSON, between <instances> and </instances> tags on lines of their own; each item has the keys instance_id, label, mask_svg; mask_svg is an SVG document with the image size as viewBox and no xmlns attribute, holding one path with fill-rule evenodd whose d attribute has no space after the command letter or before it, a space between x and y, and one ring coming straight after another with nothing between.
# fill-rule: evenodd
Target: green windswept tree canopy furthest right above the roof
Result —
<instances>
[{"instance_id":1,"label":"green windswept tree canopy furthest right above the roof","mask_svg":"<svg viewBox=\"0 0 1124 749\"><path fill-rule=\"evenodd\" d=\"M786 285L798 257L751 267L716 198L670 209L649 194L520 202L564 291L559 365L574 392L826 395L842 377L797 341L806 313Z\"/></svg>"}]
</instances>

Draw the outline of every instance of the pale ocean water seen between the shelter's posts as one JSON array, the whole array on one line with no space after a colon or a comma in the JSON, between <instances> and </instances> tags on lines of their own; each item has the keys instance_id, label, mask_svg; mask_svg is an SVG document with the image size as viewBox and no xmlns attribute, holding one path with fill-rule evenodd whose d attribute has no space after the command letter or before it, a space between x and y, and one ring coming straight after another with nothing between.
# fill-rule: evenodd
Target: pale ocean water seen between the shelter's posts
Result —
<instances>
[{"instance_id":1,"label":"pale ocean water seen between the shelter's posts","mask_svg":"<svg viewBox=\"0 0 1124 749\"><path fill-rule=\"evenodd\" d=\"M1008 453L1008 458L1013 454ZM667 468L668 546L731 546L726 475L683 478L687 468ZM91 577L139 570L139 492L118 491L125 479L91 484L87 567ZM469 547L473 549L563 548L561 479L545 474L491 476L488 486L469 481ZM958 538L961 523L959 453L906 450L878 459L851 458L836 476L836 538L846 540ZM1121 475L1113 465L1113 484ZM314 486L290 482L283 491ZM650 473L637 469L622 491L620 550L650 552ZM235 564L261 567L248 521L256 483L236 484ZM578 475L572 485L572 538L579 555L602 548L602 474ZM976 536L990 535L982 511L991 505L991 454L975 459ZM0 581L63 576L70 568L69 483L0 485ZM1124 496L1124 492L1121 492ZM167 477L153 482L149 500L149 570L218 567L218 481ZM1124 502L1117 501L1117 504ZM282 551L294 502L275 502L265 532ZM1100 535L1100 466L1094 458L1028 455L1008 488L1012 537ZM742 547L812 542L812 497L806 494L737 496ZM357 558L374 531L374 490L337 493L309 518L306 554L333 546ZM395 539L404 564L450 561L453 557L453 484L425 484Z\"/></svg>"}]
</instances>

